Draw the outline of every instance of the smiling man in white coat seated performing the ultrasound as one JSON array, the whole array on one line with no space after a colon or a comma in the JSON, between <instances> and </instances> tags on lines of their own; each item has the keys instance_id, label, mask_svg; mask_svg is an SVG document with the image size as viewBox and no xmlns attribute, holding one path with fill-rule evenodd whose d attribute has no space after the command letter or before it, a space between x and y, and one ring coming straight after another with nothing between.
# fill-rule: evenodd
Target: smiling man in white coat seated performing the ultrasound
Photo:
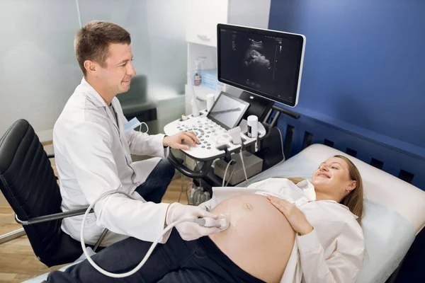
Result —
<instances>
[{"instance_id":1,"label":"smiling man in white coat seated performing the ultrasound","mask_svg":"<svg viewBox=\"0 0 425 283\"><path fill-rule=\"evenodd\" d=\"M101 246L110 246L128 236L155 241L166 225L179 219L216 218L198 207L160 203L174 175L174 168L161 158L169 146L188 149L182 141L192 146L199 141L191 132L167 137L125 131L128 121L115 96L129 90L135 75L130 42L128 31L113 23L92 21L79 30L74 48L84 79L53 129L63 211L87 207L109 190L127 192L136 199L113 194L97 202L84 229L84 241L91 245L105 228L109 231ZM157 158L132 162L130 154ZM77 241L82 218L74 216L62 221L62 230ZM176 229L186 240L220 231L189 222ZM167 238L164 236L162 243Z\"/></svg>"}]
</instances>

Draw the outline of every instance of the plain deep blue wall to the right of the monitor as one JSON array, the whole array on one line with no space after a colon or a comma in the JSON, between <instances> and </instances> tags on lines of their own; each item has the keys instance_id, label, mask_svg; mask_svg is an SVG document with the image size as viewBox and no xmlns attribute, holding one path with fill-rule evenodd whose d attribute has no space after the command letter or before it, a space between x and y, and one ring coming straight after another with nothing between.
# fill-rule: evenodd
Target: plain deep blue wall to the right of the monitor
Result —
<instances>
[{"instance_id":1,"label":"plain deep blue wall to the right of the monitor","mask_svg":"<svg viewBox=\"0 0 425 283\"><path fill-rule=\"evenodd\" d=\"M272 0L307 37L293 110L425 157L425 1Z\"/></svg>"}]
</instances>

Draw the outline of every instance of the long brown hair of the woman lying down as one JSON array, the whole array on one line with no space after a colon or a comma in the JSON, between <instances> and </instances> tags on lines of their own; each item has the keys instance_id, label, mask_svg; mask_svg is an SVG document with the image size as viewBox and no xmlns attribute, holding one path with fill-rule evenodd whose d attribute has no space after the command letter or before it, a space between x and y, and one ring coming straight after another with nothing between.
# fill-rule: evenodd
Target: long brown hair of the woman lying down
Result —
<instances>
[{"instance_id":1,"label":"long brown hair of the woman lying down","mask_svg":"<svg viewBox=\"0 0 425 283\"><path fill-rule=\"evenodd\" d=\"M341 158L346 161L350 180L356 181L356 188L344 197L341 204L344 204L351 212L353 212L354 215L358 216L358 224L361 224L361 219L363 218L363 180L360 172L354 163L345 156L336 155L334 157Z\"/></svg>"}]
</instances>

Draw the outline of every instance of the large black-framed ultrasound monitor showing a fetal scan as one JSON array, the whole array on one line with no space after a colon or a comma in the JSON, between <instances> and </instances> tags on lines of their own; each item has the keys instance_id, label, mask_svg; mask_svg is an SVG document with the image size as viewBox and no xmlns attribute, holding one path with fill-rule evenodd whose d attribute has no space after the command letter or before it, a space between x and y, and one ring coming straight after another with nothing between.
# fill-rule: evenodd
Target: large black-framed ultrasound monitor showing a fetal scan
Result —
<instances>
[{"instance_id":1,"label":"large black-framed ultrasound monitor showing a fetal scan","mask_svg":"<svg viewBox=\"0 0 425 283\"><path fill-rule=\"evenodd\" d=\"M294 107L304 50L304 35L218 24L218 80Z\"/></svg>"}]
</instances>

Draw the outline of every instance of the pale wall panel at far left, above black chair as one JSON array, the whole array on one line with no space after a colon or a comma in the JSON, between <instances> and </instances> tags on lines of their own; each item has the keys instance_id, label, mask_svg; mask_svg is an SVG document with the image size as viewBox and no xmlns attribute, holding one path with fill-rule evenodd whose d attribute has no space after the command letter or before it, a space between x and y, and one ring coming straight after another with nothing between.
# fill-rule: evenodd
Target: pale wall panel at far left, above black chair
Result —
<instances>
[{"instance_id":1,"label":"pale wall panel at far left, above black chair","mask_svg":"<svg viewBox=\"0 0 425 283\"><path fill-rule=\"evenodd\" d=\"M0 7L0 133L19 118L36 131L51 129L81 80L75 1L2 0Z\"/></svg>"}]
</instances>

